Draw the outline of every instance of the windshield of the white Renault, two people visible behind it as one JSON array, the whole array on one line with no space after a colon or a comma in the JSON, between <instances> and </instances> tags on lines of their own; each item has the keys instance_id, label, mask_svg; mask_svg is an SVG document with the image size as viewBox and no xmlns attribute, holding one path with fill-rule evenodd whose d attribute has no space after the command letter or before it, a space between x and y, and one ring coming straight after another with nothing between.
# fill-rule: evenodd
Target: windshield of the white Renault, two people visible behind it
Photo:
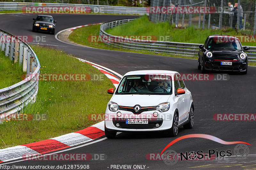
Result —
<instances>
[{"instance_id":1,"label":"windshield of the white Renault, two people visible behind it","mask_svg":"<svg viewBox=\"0 0 256 170\"><path fill-rule=\"evenodd\" d=\"M125 76L116 91L116 94L170 95L171 93L172 77L162 74Z\"/></svg>"}]
</instances>

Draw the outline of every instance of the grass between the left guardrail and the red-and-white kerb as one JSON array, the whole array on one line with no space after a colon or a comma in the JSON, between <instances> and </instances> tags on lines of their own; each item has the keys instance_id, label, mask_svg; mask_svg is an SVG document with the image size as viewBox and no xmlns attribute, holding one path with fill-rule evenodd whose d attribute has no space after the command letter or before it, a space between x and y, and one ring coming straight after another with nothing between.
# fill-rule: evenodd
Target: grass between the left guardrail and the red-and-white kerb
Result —
<instances>
[{"instance_id":1,"label":"grass between the left guardrail and the red-and-white kerb","mask_svg":"<svg viewBox=\"0 0 256 170\"><path fill-rule=\"evenodd\" d=\"M102 74L60 50L42 46L32 49L40 61L41 74ZM46 114L47 119L0 123L0 149L57 137L97 123L88 120L87 115L105 113L111 98L107 89L114 87L103 77L103 81L39 81L36 102L28 104L23 114Z\"/></svg>"}]
</instances>

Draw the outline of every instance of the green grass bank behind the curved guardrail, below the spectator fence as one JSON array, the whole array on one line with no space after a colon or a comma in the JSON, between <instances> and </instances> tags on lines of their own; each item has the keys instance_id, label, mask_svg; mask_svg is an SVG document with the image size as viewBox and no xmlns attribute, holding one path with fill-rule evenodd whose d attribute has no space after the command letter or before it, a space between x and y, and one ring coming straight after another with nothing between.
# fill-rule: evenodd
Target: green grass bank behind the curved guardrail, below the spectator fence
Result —
<instances>
[{"instance_id":1,"label":"green grass bank behind the curved guardrail, below the spectator fence","mask_svg":"<svg viewBox=\"0 0 256 170\"><path fill-rule=\"evenodd\" d=\"M119 25L112 29L106 30L112 35L154 35L159 39L159 36L169 36L167 41L185 42L185 43L199 43L204 44L207 36L213 34L225 35L250 35L249 32L239 31L232 28L223 30L212 29L195 29L193 27L175 28L169 22L153 23L148 20L148 16L137 18L124 25ZM256 46L256 42L242 42L243 46Z\"/></svg>"}]
</instances>

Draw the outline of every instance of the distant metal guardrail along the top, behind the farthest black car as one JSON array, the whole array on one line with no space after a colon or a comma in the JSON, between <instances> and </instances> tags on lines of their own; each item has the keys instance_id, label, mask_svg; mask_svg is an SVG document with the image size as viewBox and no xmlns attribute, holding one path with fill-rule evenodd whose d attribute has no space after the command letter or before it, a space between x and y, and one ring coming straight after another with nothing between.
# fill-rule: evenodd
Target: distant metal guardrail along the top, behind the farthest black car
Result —
<instances>
[{"instance_id":1,"label":"distant metal guardrail along the top, behind the farthest black car","mask_svg":"<svg viewBox=\"0 0 256 170\"><path fill-rule=\"evenodd\" d=\"M94 13L109 14L147 14L146 7L127 7L127 6L108 6L108 5L89 5L89 4L57 4L57 3L18 3L0 2L0 11L3 10L22 10L23 7L89 7Z\"/></svg>"}]
</instances>

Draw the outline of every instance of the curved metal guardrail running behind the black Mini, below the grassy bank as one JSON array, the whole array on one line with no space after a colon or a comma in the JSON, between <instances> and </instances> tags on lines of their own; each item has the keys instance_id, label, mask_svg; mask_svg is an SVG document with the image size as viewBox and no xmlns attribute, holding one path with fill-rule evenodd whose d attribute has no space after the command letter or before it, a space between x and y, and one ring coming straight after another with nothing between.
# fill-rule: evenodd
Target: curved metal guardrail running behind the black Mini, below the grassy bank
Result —
<instances>
[{"instance_id":1,"label":"curved metal guardrail running behind the black Mini, below the grassy bank","mask_svg":"<svg viewBox=\"0 0 256 170\"><path fill-rule=\"evenodd\" d=\"M108 41L104 42L110 46L114 46L117 48L130 48L130 49L138 49L138 50L148 50L153 51L155 53L174 53L179 55L198 55L200 44L195 43L181 43L181 42L170 42L170 41L146 41L140 40L138 41L130 41L127 38L114 36L105 32L106 29L116 27L118 25L127 24L127 22L133 20L132 19L121 19L103 23L100 25L100 36L111 36L116 39L120 39L120 41ZM125 42L126 41L126 42ZM256 46L249 46L249 50L246 52L248 55L249 61L256 61Z\"/></svg>"}]
</instances>

